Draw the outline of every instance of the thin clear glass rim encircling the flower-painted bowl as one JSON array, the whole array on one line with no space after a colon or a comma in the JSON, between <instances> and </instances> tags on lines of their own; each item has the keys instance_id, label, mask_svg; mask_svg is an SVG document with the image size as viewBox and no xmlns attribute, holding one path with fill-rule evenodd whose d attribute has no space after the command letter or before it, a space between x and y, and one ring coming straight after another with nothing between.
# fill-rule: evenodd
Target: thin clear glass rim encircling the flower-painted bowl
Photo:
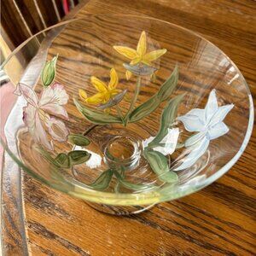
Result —
<instances>
[{"instance_id":1,"label":"thin clear glass rim encircling the flower-painted bowl","mask_svg":"<svg viewBox=\"0 0 256 256\"><path fill-rule=\"evenodd\" d=\"M47 184L49 187L53 189L60 190L61 192L67 193L68 195L73 195L75 197L84 199L86 201L93 201L93 202L98 202L98 203L104 203L104 204L110 204L110 205L120 205L120 206L135 206L135 205L148 205L148 204L154 204L154 203L159 203L161 201L171 201L175 200L177 198L181 198L185 195L190 195L192 193L195 193L196 191L203 189L207 187L207 185L213 183L216 181L219 177L223 176L225 172L228 172L232 166L235 165L236 161L241 157L241 154L244 152L245 148L247 147L247 143L249 143L250 137L253 132L253 119L254 119L254 108L253 108L253 96L251 94L251 91L249 89L249 86L247 84L246 79L244 79L241 71L239 70L238 67L236 67L236 64L230 59L228 55L224 53L222 49L219 49L218 46L215 44L212 44L207 38L204 38L201 36L201 34L191 31L188 28L185 28L183 26L179 26L177 24L171 23L166 20L160 20L156 19L153 17L148 17L147 15L119 15L119 14L103 14L103 15L84 15L84 17L87 16L89 17L108 17L108 16L122 16L122 17L135 17L137 19L147 19L147 20L153 20L153 21L158 21L162 22L165 24L168 24L168 26L176 27L177 29L183 31L183 32L188 32L191 35L194 35L197 38L201 38L207 44L211 44L213 47L219 50L219 52L225 56L225 58L230 61L230 64L236 68L236 72L240 75L242 83L245 85L245 88L247 90L247 96L248 96L248 105L249 105L249 118L248 118L248 124L247 124L247 131L245 133L245 136L243 138L243 141L241 143L241 146L239 150L236 152L236 154L233 156L231 160L229 160L224 166L222 166L220 169L218 169L217 172L214 172L210 177L207 177L206 179L202 180L200 183L196 184L191 184L189 185L188 189L183 189L183 191L179 191L179 193L173 193L172 195L166 194L166 195L160 195L157 193L157 190L152 190L152 191L145 191L142 193L125 193L125 194L115 194L115 193L110 193L110 192L104 192L104 191L97 191L97 190L91 190L87 189L85 187L79 186L79 184L73 184L70 183L72 186L71 190L63 189L62 187L56 186L54 183L50 183L48 180L44 179L44 177L40 177L37 173L33 172L30 168L28 168L23 162L11 152L11 150L8 148L6 143L4 143L3 138L1 137L1 143L3 144L3 148L7 153L10 155L12 160L16 162L20 168L28 172L32 177L35 177L38 179L40 182ZM65 20L61 21L60 23L55 24L54 26L49 26L45 28L44 30L32 35L32 37L27 38L26 41L21 43L18 47L16 47L11 54L6 58L5 61L3 61L3 64L0 66L1 69L5 67L7 63L12 59L13 56L15 56L20 49L22 49L28 42L30 42L33 38L36 38L38 35L40 35L43 32L48 32L55 27L60 27L63 25L67 25L69 23L72 23L77 20L86 20L85 18L74 18L71 20ZM15 102L16 105L17 102ZM13 107L15 108L15 106ZM6 121L5 126L9 123L9 117ZM4 126L4 127L5 127ZM20 129L20 128L18 128ZM15 131L16 133L16 131ZM17 146L17 145L16 145ZM18 146L17 146L18 147ZM3 161L4 164L4 161Z\"/></svg>"}]
</instances>

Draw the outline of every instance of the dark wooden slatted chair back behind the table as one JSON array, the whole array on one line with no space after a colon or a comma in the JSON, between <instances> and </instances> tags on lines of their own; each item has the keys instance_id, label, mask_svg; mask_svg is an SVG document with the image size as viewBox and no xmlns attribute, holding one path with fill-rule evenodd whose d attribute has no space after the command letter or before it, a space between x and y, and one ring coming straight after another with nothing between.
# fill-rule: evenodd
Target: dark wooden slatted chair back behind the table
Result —
<instances>
[{"instance_id":1,"label":"dark wooden slatted chair back behind the table","mask_svg":"<svg viewBox=\"0 0 256 256\"><path fill-rule=\"evenodd\" d=\"M15 48L33 34L59 22L79 0L3 0L3 34Z\"/></svg>"}]
</instances>

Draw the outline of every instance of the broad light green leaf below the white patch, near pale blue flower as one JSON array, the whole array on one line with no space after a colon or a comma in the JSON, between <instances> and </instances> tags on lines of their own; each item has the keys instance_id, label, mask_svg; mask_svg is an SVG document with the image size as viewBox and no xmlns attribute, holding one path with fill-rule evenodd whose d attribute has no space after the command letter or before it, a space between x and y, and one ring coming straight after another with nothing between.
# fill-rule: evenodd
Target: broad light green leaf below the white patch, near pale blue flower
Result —
<instances>
[{"instance_id":1,"label":"broad light green leaf below the white patch, near pale blue flower","mask_svg":"<svg viewBox=\"0 0 256 256\"><path fill-rule=\"evenodd\" d=\"M144 156L160 181L166 183L177 182L177 174L169 170L168 161L164 154L154 150L145 150Z\"/></svg>"}]
</instances>

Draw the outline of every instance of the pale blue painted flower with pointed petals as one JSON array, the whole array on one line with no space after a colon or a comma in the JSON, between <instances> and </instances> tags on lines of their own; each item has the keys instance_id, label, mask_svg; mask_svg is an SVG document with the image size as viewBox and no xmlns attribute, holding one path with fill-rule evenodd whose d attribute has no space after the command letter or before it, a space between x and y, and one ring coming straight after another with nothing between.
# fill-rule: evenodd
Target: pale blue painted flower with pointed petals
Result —
<instances>
[{"instance_id":1,"label":"pale blue painted flower with pointed petals","mask_svg":"<svg viewBox=\"0 0 256 256\"><path fill-rule=\"evenodd\" d=\"M201 155L205 154L211 140L223 136L229 131L223 120L234 107L233 104L218 107L216 91L212 90L205 109L195 108L177 119L183 122L187 131L197 131L185 142L189 154L183 158L180 166L173 171L180 171L193 166Z\"/></svg>"}]
</instances>

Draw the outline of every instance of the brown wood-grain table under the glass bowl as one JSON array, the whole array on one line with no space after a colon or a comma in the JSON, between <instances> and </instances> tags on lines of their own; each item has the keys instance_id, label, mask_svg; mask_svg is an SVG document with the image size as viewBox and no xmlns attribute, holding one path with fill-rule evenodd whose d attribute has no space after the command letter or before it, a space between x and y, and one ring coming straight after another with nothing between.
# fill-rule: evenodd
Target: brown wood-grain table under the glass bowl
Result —
<instances>
[{"instance_id":1,"label":"brown wood-grain table under the glass bowl","mask_svg":"<svg viewBox=\"0 0 256 256\"><path fill-rule=\"evenodd\" d=\"M256 3L249 0L90 0L76 16L149 15L187 27L240 68L256 96ZM25 173L4 173L5 255L253 255L256 132L224 177L135 217L96 212ZM21 186L20 186L21 184Z\"/></svg>"}]
</instances>

